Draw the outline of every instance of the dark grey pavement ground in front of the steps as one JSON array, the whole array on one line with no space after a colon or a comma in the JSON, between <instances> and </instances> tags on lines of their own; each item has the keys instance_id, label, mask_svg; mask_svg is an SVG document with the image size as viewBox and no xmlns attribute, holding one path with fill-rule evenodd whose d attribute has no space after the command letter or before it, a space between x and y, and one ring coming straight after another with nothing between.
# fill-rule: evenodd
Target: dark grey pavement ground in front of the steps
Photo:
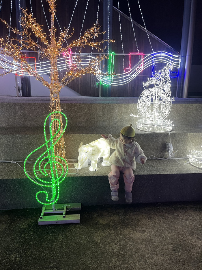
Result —
<instances>
[{"instance_id":1,"label":"dark grey pavement ground in front of the steps","mask_svg":"<svg viewBox=\"0 0 202 270\"><path fill-rule=\"evenodd\" d=\"M0 214L0 269L201 270L202 203L84 206L79 224Z\"/></svg>"}]
</instances>

